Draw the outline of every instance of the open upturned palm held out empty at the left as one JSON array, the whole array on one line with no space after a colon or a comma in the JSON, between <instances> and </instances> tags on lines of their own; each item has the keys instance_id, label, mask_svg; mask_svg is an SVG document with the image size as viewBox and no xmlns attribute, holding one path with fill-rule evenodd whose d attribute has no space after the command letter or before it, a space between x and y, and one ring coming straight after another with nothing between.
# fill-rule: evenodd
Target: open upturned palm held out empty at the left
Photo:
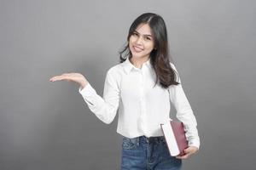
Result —
<instances>
[{"instance_id":1,"label":"open upturned palm held out empty at the left","mask_svg":"<svg viewBox=\"0 0 256 170\"><path fill-rule=\"evenodd\" d=\"M82 74L77 72L64 73L60 76L51 77L49 79L50 82L62 81L62 80L67 82L77 82L82 88L84 88L88 83L86 78Z\"/></svg>"}]
</instances>

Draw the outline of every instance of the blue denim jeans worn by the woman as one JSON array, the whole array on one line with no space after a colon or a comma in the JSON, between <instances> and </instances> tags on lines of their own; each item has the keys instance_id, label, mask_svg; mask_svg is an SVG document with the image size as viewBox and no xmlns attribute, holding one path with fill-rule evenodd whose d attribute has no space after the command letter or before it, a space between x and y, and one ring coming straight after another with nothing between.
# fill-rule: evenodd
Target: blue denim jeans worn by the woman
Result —
<instances>
[{"instance_id":1,"label":"blue denim jeans worn by the woman","mask_svg":"<svg viewBox=\"0 0 256 170\"><path fill-rule=\"evenodd\" d=\"M182 160L170 156L163 136L123 137L121 170L180 170Z\"/></svg>"}]
</instances>

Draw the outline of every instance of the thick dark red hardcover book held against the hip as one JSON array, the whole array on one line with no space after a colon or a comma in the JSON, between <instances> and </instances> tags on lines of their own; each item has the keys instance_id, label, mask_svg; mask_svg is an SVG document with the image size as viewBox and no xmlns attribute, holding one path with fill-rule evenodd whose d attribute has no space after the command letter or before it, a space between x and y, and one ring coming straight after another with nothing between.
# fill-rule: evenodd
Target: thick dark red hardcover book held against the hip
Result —
<instances>
[{"instance_id":1,"label":"thick dark red hardcover book held against the hip","mask_svg":"<svg viewBox=\"0 0 256 170\"><path fill-rule=\"evenodd\" d=\"M160 124L171 156L183 156L188 148L183 122L169 120Z\"/></svg>"}]
</instances>

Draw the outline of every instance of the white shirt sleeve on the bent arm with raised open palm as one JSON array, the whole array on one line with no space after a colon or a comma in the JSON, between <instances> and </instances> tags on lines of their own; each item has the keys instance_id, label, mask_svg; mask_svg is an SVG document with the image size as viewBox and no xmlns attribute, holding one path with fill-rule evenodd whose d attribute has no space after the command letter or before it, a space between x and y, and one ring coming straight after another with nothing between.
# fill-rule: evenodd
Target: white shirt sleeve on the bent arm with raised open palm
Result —
<instances>
[{"instance_id":1,"label":"white shirt sleeve on the bent arm with raised open palm","mask_svg":"<svg viewBox=\"0 0 256 170\"><path fill-rule=\"evenodd\" d=\"M107 72L105 79L103 98L96 94L96 90L91 87L89 82L83 89L79 87L79 93L90 111L102 122L107 124L113 122L119 107L119 87L111 69Z\"/></svg>"}]
</instances>

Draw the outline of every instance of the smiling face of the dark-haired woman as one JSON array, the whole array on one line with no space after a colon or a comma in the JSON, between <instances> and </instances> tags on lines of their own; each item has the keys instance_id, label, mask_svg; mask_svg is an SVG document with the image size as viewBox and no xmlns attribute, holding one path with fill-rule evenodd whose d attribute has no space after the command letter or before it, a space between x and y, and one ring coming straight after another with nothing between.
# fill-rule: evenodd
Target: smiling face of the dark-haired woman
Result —
<instances>
[{"instance_id":1,"label":"smiling face of the dark-haired woman","mask_svg":"<svg viewBox=\"0 0 256 170\"><path fill-rule=\"evenodd\" d=\"M129 48L134 58L149 57L150 52L154 49L154 39L148 24L137 26L129 39Z\"/></svg>"}]
</instances>

